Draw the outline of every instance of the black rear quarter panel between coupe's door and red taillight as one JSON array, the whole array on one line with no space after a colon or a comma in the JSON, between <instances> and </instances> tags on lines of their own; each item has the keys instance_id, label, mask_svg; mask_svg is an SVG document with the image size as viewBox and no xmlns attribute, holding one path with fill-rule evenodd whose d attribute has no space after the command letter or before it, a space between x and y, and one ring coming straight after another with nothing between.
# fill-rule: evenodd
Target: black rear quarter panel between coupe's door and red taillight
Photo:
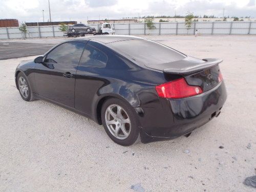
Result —
<instances>
[{"instance_id":1,"label":"black rear quarter panel between coupe's door and red taillight","mask_svg":"<svg viewBox=\"0 0 256 192\"><path fill-rule=\"evenodd\" d=\"M98 42L89 41L108 56L105 68L81 65L76 73L75 108L97 121L97 104L104 97L117 97L134 108L161 106L155 90L165 81L161 72L147 70Z\"/></svg>"}]
</instances>

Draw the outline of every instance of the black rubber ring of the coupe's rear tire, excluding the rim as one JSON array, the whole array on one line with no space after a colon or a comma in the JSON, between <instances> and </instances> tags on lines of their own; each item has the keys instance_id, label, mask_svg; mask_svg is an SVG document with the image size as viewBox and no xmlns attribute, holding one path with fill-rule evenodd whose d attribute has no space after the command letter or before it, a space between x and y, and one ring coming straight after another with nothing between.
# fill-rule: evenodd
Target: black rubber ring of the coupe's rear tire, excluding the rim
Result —
<instances>
[{"instance_id":1,"label":"black rubber ring of the coupe's rear tire, excluding the rim","mask_svg":"<svg viewBox=\"0 0 256 192\"><path fill-rule=\"evenodd\" d=\"M130 135L127 138L125 138L125 139L117 139L114 135L111 134L111 132L108 129L108 126L106 125L106 122L105 122L105 111L106 111L106 109L111 104L118 104L118 105L120 105L125 110L127 115L130 117L130 120L131 120L131 132L130 132ZM136 118L136 112L132 108L132 106L130 106L129 104L125 103L121 99L110 98L110 99L106 100L103 103L103 106L102 106L102 109L101 109L101 120L102 120L102 124L104 126L104 129L105 129L106 133L117 144L120 144L120 145L123 145L123 146L129 146L129 145L134 144L137 141L137 139L139 137L139 129L138 129L138 122L137 122L137 118Z\"/></svg>"}]
</instances>

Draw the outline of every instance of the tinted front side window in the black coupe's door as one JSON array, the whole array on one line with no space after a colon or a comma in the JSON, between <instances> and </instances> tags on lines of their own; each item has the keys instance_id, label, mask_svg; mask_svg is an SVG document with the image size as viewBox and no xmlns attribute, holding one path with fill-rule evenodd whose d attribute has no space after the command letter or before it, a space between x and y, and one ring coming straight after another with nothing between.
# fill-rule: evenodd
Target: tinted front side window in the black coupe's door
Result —
<instances>
[{"instance_id":1,"label":"tinted front side window in the black coupe's door","mask_svg":"<svg viewBox=\"0 0 256 192\"><path fill-rule=\"evenodd\" d=\"M78 65L83 48L81 42L65 42L52 50L45 62Z\"/></svg>"}]
</instances>

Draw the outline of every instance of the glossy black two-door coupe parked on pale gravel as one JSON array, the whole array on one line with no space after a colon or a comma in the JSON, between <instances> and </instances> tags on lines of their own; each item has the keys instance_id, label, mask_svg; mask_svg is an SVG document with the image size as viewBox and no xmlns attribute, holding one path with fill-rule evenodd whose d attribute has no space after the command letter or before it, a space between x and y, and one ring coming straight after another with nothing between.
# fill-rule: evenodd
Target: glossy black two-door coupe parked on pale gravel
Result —
<instances>
[{"instance_id":1,"label":"glossy black two-door coupe parked on pale gravel","mask_svg":"<svg viewBox=\"0 0 256 192\"><path fill-rule=\"evenodd\" d=\"M118 144L189 135L227 98L221 59L198 59L134 36L76 38L20 63L26 101L45 99L103 124Z\"/></svg>"}]
</instances>

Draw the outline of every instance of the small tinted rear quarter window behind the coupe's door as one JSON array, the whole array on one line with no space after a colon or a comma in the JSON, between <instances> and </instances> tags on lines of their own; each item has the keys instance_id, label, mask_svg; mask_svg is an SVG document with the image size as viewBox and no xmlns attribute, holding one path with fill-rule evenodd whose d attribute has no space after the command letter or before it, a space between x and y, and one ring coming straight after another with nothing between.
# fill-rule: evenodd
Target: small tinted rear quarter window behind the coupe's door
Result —
<instances>
[{"instance_id":1,"label":"small tinted rear quarter window behind the coupe's door","mask_svg":"<svg viewBox=\"0 0 256 192\"><path fill-rule=\"evenodd\" d=\"M108 57L100 50L87 45L84 48L80 64L91 68L105 68Z\"/></svg>"}]
</instances>

